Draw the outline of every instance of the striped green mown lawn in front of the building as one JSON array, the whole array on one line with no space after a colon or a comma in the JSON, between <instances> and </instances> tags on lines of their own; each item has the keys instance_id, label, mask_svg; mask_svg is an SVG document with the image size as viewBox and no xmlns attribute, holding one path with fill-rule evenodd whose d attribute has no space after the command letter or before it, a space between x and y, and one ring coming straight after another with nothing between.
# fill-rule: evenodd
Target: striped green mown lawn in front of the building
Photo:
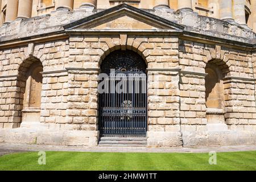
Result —
<instances>
[{"instance_id":1,"label":"striped green mown lawn in front of the building","mask_svg":"<svg viewBox=\"0 0 256 182\"><path fill-rule=\"evenodd\" d=\"M217 153L217 165L209 154L46 152L46 165L38 164L38 152L0 157L0 170L254 170L256 151Z\"/></svg>"}]
</instances>

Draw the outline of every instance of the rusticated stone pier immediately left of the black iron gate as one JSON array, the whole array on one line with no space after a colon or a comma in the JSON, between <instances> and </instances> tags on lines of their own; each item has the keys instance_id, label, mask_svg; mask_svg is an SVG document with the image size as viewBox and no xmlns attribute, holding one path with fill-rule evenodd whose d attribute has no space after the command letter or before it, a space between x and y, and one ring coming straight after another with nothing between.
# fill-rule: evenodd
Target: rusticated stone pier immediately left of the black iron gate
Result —
<instances>
[{"instance_id":1,"label":"rusticated stone pier immediately left of the black iron gate","mask_svg":"<svg viewBox=\"0 0 256 182\"><path fill-rule=\"evenodd\" d=\"M98 142L98 69L66 68L68 70L68 109L66 123L78 125L79 132L70 133L68 145L97 146ZM75 138L75 140L73 140ZM84 139L86 138L86 139ZM65 141L65 140L68 140Z\"/></svg>"}]
</instances>

